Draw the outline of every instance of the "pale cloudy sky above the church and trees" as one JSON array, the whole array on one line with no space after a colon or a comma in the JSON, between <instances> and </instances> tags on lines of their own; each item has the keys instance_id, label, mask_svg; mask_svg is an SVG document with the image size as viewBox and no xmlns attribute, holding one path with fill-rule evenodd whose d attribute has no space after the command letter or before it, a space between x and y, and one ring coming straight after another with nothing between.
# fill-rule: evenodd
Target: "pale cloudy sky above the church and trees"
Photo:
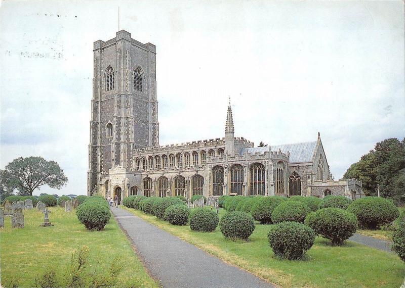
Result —
<instances>
[{"instance_id":1,"label":"pale cloudy sky above the church and trees","mask_svg":"<svg viewBox=\"0 0 405 288\"><path fill-rule=\"evenodd\" d=\"M0 2L0 169L58 162L87 194L93 42L156 45L160 145L235 136L315 141L335 179L405 135L404 4L268 1Z\"/></svg>"}]
</instances>

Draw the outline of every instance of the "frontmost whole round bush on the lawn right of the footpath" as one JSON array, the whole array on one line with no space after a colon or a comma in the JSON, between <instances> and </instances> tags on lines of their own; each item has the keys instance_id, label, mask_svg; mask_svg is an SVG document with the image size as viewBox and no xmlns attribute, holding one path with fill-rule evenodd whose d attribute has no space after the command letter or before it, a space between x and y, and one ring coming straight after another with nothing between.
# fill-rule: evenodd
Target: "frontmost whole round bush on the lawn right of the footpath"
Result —
<instances>
[{"instance_id":1,"label":"frontmost whole round bush on the lawn right of the footpath","mask_svg":"<svg viewBox=\"0 0 405 288\"><path fill-rule=\"evenodd\" d=\"M267 238L277 258L296 260L312 247L315 233L302 223L281 222L270 227Z\"/></svg>"}]
</instances>

